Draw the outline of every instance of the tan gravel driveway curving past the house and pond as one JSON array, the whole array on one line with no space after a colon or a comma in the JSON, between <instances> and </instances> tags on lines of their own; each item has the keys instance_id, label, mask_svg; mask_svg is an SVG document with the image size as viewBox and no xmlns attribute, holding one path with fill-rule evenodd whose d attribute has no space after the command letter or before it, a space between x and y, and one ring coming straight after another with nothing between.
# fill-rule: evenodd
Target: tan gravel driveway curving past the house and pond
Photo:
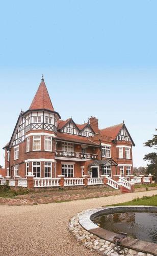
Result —
<instances>
[{"instance_id":1,"label":"tan gravel driveway curving past the house and pond","mask_svg":"<svg viewBox=\"0 0 157 256\"><path fill-rule=\"evenodd\" d=\"M157 190L34 206L0 205L0 255L95 255L69 233L71 217L85 209L152 195Z\"/></svg>"}]
</instances>

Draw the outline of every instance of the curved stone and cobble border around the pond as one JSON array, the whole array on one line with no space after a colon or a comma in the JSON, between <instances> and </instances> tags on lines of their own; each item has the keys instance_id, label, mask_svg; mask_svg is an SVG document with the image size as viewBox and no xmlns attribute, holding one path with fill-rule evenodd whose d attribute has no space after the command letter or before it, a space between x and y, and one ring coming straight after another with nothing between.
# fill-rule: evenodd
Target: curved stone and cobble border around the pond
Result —
<instances>
[{"instance_id":1,"label":"curved stone and cobble border around the pond","mask_svg":"<svg viewBox=\"0 0 157 256\"><path fill-rule=\"evenodd\" d=\"M81 241L85 246L92 250L96 250L102 255L117 256L114 248L114 237L116 233L100 228L92 222L92 220L103 214L113 214L115 212L157 212L155 206L112 206L99 207L80 212L74 216L69 223L69 230ZM157 255L157 244L150 243L133 238L125 238L122 240L123 253L125 255L151 256ZM123 254L121 253L121 254Z\"/></svg>"}]
</instances>

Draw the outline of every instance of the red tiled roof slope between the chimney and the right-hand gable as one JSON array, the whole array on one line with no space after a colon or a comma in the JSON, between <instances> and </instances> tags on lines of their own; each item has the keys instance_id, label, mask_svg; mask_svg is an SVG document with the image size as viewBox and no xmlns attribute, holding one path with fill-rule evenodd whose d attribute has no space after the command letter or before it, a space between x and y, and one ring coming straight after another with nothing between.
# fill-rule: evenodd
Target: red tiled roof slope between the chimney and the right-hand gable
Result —
<instances>
[{"instance_id":1,"label":"red tiled roof slope between the chimney and the right-hand gable","mask_svg":"<svg viewBox=\"0 0 157 256\"><path fill-rule=\"evenodd\" d=\"M101 136L111 137L112 140L116 139L118 133L123 127L123 123L119 123L114 126L107 127L105 129L99 130Z\"/></svg>"}]
</instances>

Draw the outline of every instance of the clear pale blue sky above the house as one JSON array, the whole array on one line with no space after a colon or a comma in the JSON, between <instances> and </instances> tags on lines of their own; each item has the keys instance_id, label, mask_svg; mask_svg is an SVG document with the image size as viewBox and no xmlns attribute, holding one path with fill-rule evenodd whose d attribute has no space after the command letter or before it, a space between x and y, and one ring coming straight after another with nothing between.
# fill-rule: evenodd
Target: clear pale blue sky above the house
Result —
<instances>
[{"instance_id":1,"label":"clear pale blue sky above the house","mask_svg":"<svg viewBox=\"0 0 157 256\"><path fill-rule=\"evenodd\" d=\"M62 119L124 120L134 165L146 165L143 142L157 127L156 9L156 0L1 1L0 148L44 74Z\"/></svg>"}]
</instances>

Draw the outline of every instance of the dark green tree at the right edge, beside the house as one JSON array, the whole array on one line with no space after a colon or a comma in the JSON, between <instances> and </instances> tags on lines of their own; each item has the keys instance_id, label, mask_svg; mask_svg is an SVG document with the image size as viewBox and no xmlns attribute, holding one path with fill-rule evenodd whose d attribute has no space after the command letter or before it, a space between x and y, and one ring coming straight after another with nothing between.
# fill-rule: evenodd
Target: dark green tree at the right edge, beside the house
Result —
<instances>
[{"instance_id":1,"label":"dark green tree at the right edge, beside the house","mask_svg":"<svg viewBox=\"0 0 157 256\"><path fill-rule=\"evenodd\" d=\"M157 131L157 129L155 129L155 131ZM154 147L154 150L157 150L157 135L153 135L153 138L145 142L144 145ZM155 176L155 183L157 183L157 153L149 153L144 156L143 160L147 160L150 163L147 164L147 174L151 173Z\"/></svg>"}]
</instances>

